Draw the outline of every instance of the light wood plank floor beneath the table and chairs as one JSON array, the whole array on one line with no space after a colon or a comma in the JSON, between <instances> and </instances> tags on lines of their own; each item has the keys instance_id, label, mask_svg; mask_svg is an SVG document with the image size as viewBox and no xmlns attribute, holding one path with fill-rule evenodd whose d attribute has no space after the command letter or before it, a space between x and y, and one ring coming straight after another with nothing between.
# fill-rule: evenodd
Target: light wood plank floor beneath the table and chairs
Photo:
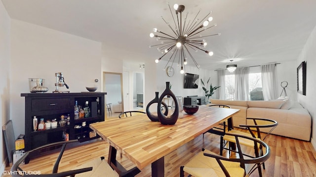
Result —
<instances>
[{"instance_id":1,"label":"light wood plank floor beneath the table and chairs","mask_svg":"<svg viewBox=\"0 0 316 177\"><path fill-rule=\"evenodd\" d=\"M239 129L245 131L243 129ZM179 168L190 160L202 148L219 153L220 138L210 133L202 135L165 156L165 177L178 177ZM291 138L269 135L266 143L271 148L271 157L265 163L266 170L263 170L264 177L315 177L316 176L316 151L312 144ZM83 145L66 150L59 165L59 172L76 168L82 163L99 156L108 156L109 145L100 140L94 143ZM227 153L224 155L227 155ZM57 154L50 154L36 159L22 168L28 170L40 170L41 174L50 172ZM124 156L117 157L121 164L129 169L133 164ZM9 170L7 167L6 170ZM147 166L136 177L150 177L151 166ZM4 176L3 176L4 177ZM7 176L6 176L7 177ZM258 177L254 172L251 177Z\"/></svg>"}]
</instances>

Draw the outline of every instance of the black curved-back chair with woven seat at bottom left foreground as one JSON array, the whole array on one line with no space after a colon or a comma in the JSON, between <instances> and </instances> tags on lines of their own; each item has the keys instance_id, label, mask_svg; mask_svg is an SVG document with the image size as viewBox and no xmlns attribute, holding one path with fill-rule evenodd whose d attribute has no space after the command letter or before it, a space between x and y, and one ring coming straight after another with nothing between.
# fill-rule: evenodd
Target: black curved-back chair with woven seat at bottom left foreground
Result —
<instances>
[{"instance_id":1,"label":"black curved-back chair with woven seat at bottom left foreground","mask_svg":"<svg viewBox=\"0 0 316 177\"><path fill-rule=\"evenodd\" d=\"M83 164L78 167L78 169L74 170L68 170L64 172L58 172L58 167L59 167L59 162L62 159L63 153L65 151L66 145L78 142L78 140L70 140L70 141L62 141L62 142L56 142L56 143L51 143L47 144L44 146L41 146L39 148L32 149L30 151L27 151L23 154L20 159L18 159L11 167L10 169L10 174L12 177L85 177L86 175L92 175L92 177L98 176L96 173L100 172L101 169L101 174L111 174L111 177L118 177L116 175L117 173L108 165L108 163L104 160L104 158L100 157L100 159L95 159L91 163ZM29 161L29 155L32 153L38 153L43 149L46 148L52 148L56 147L60 149L59 155L55 161L55 164L53 166L52 172L50 174L28 174L31 170L28 169L27 171L24 171L20 165L22 162L25 160L28 160L28 163L32 163L32 159ZM105 163L101 163L102 161L105 161ZM31 164L32 165L32 164ZM99 167L100 166L100 167ZM37 168L37 167L34 167ZM35 171L40 171L40 166L38 166L37 169L32 169L32 172ZM87 174L84 174L87 173ZM101 175L101 176L102 176ZM100 176L100 175L99 175ZM109 176L110 177L110 176Z\"/></svg>"}]
</instances>

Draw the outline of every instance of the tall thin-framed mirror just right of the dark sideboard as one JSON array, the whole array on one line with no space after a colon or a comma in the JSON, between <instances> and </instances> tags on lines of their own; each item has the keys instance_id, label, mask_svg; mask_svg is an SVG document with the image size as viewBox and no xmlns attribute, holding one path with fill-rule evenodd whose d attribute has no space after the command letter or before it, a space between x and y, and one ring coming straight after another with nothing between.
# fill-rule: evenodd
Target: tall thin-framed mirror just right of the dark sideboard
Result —
<instances>
[{"instance_id":1,"label":"tall thin-framed mirror just right of the dark sideboard","mask_svg":"<svg viewBox=\"0 0 316 177\"><path fill-rule=\"evenodd\" d=\"M122 73L103 72L103 91L107 92L106 118L117 118L124 110Z\"/></svg>"}]
</instances>

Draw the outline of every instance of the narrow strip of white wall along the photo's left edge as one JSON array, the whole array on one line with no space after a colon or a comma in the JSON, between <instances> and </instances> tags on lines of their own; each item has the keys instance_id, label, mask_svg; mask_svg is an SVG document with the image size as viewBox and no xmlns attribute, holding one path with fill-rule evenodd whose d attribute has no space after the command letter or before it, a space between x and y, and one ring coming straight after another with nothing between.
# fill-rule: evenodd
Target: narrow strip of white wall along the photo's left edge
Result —
<instances>
[{"instance_id":1,"label":"narrow strip of white wall along the photo's left edge","mask_svg":"<svg viewBox=\"0 0 316 177\"><path fill-rule=\"evenodd\" d=\"M0 121L5 124L10 114L10 17L7 14L2 1L0 1ZM0 174L5 168L7 158L2 131L0 135Z\"/></svg>"}]
</instances>

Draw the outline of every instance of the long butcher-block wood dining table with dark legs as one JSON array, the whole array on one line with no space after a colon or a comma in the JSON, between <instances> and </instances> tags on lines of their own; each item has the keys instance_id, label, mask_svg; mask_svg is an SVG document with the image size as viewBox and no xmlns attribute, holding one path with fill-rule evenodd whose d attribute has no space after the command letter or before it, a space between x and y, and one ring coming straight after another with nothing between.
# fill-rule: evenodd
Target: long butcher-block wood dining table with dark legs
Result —
<instances>
[{"instance_id":1,"label":"long butcher-block wood dining table with dark legs","mask_svg":"<svg viewBox=\"0 0 316 177\"><path fill-rule=\"evenodd\" d=\"M173 125L151 121L146 114L115 118L89 125L109 143L109 165L120 177L135 176L151 164L152 177L164 177L164 156L180 148L240 110L201 105L197 113L184 113ZM116 160L117 151L135 167L126 170Z\"/></svg>"}]
</instances>

